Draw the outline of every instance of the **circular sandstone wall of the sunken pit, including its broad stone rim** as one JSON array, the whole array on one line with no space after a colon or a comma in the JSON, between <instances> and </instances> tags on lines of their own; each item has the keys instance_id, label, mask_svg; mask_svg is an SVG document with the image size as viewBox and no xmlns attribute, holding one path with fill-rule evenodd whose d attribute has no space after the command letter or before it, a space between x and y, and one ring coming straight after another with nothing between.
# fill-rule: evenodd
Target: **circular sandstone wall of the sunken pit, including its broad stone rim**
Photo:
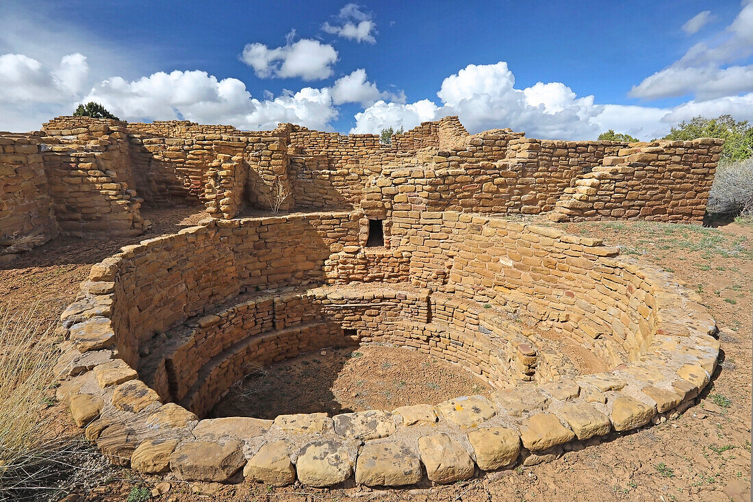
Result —
<instances>
[{"instance_id":1,"label":"circular sandstone wall of the sunken pit, including its broad stone rim","mask_svg":"<svg viewBox=\"0 0 753 502\"><path fill-rule=\"evenodd\" d=\"M117 464L273 485L453 482L663 419L709 382L699 298L599 240L465 213L207 220L94 265L62 314L59 398ZM521 320L525 322L520 322ZM589 350L580 375L538 333ZM489 396L329 417L202 419L251 366L383 341L457 363Z\"/></svg>"}]
</instances>

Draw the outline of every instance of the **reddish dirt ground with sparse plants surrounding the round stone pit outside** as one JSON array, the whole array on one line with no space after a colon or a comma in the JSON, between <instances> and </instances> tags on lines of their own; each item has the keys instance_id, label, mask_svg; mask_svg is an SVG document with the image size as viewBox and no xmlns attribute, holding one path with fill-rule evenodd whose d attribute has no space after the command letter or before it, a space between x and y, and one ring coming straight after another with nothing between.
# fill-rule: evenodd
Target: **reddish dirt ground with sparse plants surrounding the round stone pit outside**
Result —
<instances>
[{"instance_id":1,"label":"reddish dirt ground with sparse plants surrounding the round stone pit outside","mask_svg":"<svg viewBox=\"0 0 753 502\"><path fill-rule=\"evenodd\" d=\"M145 212L154 228L133 240L53 240L0 268L2 302L15 307L38 302L41 316L55 320L62 308L72 302L78 283L84 280L91 264L126 243L175 231L205 216L192 213ZM75 482L66 486L78 486L78 500L90 502L129 497L148 500L150 493L155 494L152 500L172 502L749 500L753 225L733 223L702 228L647 222L587 222L555 226L574 234L602 237L606 243L621 246L627 255L671 271L678 281L700 293L721 328L723 350L712 384L703 392L700 403L677 419L634 433L613 433L600 445L568 451L550 464L488 473L449 486L427 483L404 490L371 490L352 485L352 481L331 490L299 484L288 488L268 488L252 482L218 485L141 476L100 464L87 467L89 471L81 471ZM61 405L51 406L48 412L70 424ZM69 430L75 427L69 425ZM90 488L81 488L84 485ZM157 495L166 488L166 493Z\"/></svg>"}]
</instances>

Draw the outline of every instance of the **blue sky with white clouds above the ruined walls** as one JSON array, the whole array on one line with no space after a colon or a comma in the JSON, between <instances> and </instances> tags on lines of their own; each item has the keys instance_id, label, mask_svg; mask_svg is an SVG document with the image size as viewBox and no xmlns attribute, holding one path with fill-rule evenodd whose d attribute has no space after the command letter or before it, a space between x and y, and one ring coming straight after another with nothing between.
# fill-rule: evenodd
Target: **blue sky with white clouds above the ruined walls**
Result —
<instances>
[{"instance_id":1,"label":"blue sky with white clouds above the ruined walls","mask_svg":"<svg viewBox=\"0 0 753 502\"><path fill-rule=\"evenodd\" d=\"M459 115L541 138L753 119L753 2L0 2L0 130L130 121L348 132Z\"/></svg>"}]
</instances>

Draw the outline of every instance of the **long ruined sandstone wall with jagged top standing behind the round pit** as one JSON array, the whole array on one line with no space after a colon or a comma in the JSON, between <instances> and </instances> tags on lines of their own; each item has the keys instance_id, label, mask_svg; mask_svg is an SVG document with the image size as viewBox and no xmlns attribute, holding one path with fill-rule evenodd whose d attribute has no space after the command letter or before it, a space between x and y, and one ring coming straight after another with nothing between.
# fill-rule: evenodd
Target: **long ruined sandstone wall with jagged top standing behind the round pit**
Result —
<instances>
[{"instance_id":1,"label":"long ruined sandstone wall with jagged top standing behind the round pit","mask_svg":"<svg viewBox=\"0 0 753 502\"><path fill-rule=\"evenodd\" d=\"M21 168L22 177L36 195L18 188L17 174L4 176L3 200L23 200L6 202L0 213L4 253L38 245L58 228L81 237L104 228L138 234L147 226L142 203L203 204L223 219L247 208L362 208L384 218L389 197L428 210L554 210L550 217L560 220L697 222L720 148L714 139L628 145L530 139L509 129L469 135L457 117L425 122L395 135L392 145L375 135L293 124L245 132L187 121L126 124L86 117L59 117L41 133L4 137L29 152L38 140L45 167L41 176L34 153L5 152L16 155L15 166L31 166ZM37 216L47 205L54 225Z\"/></svg>"}]
</instances>

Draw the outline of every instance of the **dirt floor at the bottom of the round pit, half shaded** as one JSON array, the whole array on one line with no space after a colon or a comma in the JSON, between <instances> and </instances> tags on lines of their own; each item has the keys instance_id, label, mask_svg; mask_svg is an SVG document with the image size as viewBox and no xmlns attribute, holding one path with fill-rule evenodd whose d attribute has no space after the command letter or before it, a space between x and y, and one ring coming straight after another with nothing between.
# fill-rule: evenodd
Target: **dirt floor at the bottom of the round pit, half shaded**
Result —
<instances>
[{"instance_id":1,"label":"dirt floor at the bottom of the round pit, half shaded","mask_svg":"<svg viewBox=\"0 0 753 502\"><path fill-rule=\"evenodd\" d=\"M363 412L437 404L489 392L459 366L418 350L377 344L327 349L260 369L230 389L212 417Z\"/></svg>"}]
</instances>

